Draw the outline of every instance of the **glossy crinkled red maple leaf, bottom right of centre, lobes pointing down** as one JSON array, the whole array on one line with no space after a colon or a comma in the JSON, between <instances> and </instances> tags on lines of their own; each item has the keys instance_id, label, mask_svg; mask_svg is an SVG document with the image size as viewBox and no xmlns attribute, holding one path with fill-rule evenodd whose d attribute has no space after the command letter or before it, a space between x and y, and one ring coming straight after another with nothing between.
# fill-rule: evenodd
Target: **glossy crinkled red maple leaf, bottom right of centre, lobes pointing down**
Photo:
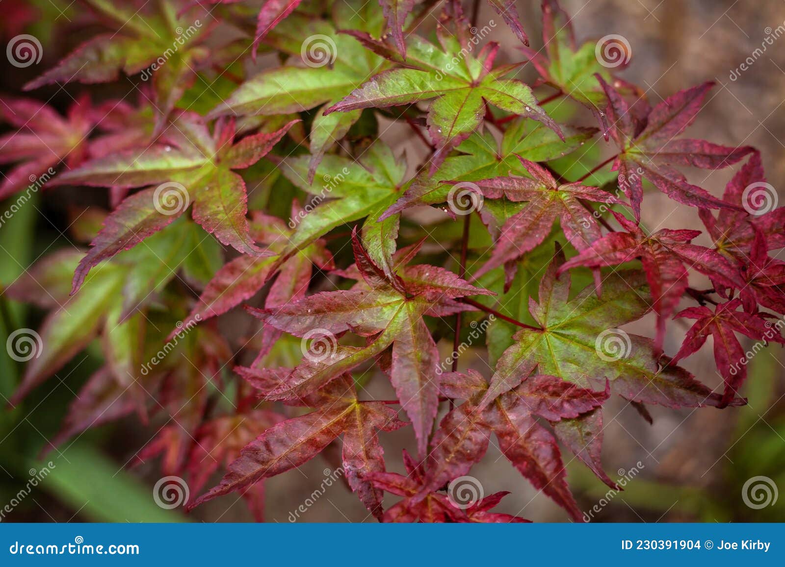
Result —
<instances>
[{"instance_id":1,"label":"glossy crinkled red maple leaf, bottom right of centre, lobes pointing down","mask_svg":"<svg viewBox=\"0 0 785 567\"><path fill-rule=\"evenodd\" d=\"M421 494L438 489L451 478L469 473L487 452L491 434L502 454L525 478L567 510L582 518L565 477L556 439L535 417L557 422L574 419L602 405L604 392L594 392L556 376L529 376L514 389L484 402L488 384L479 373L447 373L440 390L448 398L469 401L444 416L433 437Z\"/></svg>"}]
</instances>

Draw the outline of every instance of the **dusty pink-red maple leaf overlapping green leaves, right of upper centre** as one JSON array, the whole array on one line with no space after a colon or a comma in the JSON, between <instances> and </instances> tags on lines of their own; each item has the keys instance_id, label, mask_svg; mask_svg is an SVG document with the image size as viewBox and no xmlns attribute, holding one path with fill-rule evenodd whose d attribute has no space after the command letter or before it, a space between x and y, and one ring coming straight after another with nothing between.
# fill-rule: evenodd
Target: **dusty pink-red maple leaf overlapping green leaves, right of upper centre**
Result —
<instances>
[{"instance_id":1,"label":"dusty pink-red maple leaf overlapping green leaves, right of upper centre","mask_svg":"<svg viewBox=\"0 0 785 567\"><path fill-rule=\"evenodd\" d=\"M608 205L619 202L612 194L597 187L585 187L579 183L557 184L542 165L520 156L518 159L529 177L502 176L476 182L487 198L528 201L528 205L506 220L490 259L476 271L474 278L534 249L550 233L553 221L557 219L571 245L579 250L590 248L602 233L594 215L579 199Z\"/></svg>"}]
</instances>

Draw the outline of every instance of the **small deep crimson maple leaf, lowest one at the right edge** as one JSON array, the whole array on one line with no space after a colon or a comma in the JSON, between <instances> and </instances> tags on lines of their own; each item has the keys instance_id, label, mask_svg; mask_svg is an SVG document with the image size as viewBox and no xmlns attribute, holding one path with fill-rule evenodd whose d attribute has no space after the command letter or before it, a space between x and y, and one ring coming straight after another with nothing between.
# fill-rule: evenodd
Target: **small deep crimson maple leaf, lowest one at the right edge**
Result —
<instances>
[{"instance_id":1,"label":"small deep crimson maple leaf, lowest one at the right edge","mask_svg":"<svg viewBox=\"0 0 785 567\"><path fill-rule=\"evenodd\" d=\"M714 362L725 380L725 392L717 405L718 408L724 408L732 402L744 380L747 380L748 361L736 333L742 333L750 339L773 340L785 344L779 326L774 327L758 314L737 311L739 307L741 300L735 299L717 305L714 313L708 307L702 306L688 307L676 315L676 318L696 319L696 322L687 331L684 343L674 356L674 363L697 352L709 335L714 337Z\"/></svg>"}]
</instances>

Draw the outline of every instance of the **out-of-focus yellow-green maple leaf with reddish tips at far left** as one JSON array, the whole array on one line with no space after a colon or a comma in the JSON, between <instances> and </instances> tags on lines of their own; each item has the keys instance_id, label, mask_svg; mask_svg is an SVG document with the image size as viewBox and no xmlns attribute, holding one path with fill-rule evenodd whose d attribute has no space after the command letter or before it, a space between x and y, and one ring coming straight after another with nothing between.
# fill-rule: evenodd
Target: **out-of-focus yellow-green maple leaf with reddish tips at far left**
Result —
<instances>
[{"instance_id":1,"label":"out-of-focus yellow-green maple leaf with reddish tips at far left","mask_svg":"<svg viewBox=\"0 0 785 567\"><path fill-rule=\"evenodd\" d=\"M122 387L137 395L138 402L141 391L134 378L144 362L141 337L146 326L141 310L176 276L177 267L192 253L192 239L188 238L192 230L196 230L195 225L184 220L172 224L148 238L143 246L115 257L90 274L79 293L73 295L68 293L66 282L81 256L73 249L45 256L5 289L9 297L52 310L38 331L46 348L27 365L11 403L19 402L99 334L108 369Z\"/></svg>"}]
</instances>

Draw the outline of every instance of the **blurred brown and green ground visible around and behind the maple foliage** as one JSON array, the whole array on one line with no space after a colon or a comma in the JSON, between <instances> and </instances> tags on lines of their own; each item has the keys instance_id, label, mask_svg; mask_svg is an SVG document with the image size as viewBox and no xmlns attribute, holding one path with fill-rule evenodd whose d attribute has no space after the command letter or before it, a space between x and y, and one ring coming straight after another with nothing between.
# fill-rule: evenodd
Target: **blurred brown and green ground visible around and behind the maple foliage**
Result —
<instances>
[{"instance_id":1,"label":"blurred brown and green ground visible around and behind the maple foliage","mask_svg":"<svg viewBox=\"0 0 785 567\"><path fill-rule=\"evenodd\" d=\"M374 0L375 2L375 0ZM249 2L253 4L253 2ZM739 66L753 57L765 38L785 33L785 2L770 0L562 0L571 13L579 42L604 35L623 35L630 43L632 61L620 75L646 89L656 104L679 89L707 80L714 88L706 107L688 133L718 144L758 147L769 183L781 190L785 174L785 38L776 37L765 53L754 56L747 71ZM539 2L517 2L521 21L535 49L542 46ZM0 0L2 43L16 35L35 35L43 45L43 60L27 68L13 67L0 58L0 93L20 94L20 85L40 74L68 53L84 35L68 33L75 17L71 2L59 0ZM485 3L478 22L497 17ZM433 22L426 25L433 27ZM516 40L504 25L494 28L490 39L502 44L502 60L517 60ZM779 42L783 42L780 45ZM272 60L267 60L268 64ZM265 65L265 58L259 63ZM734 71L736 73L734 74ZM520 78L533 80L529 66ZM96 85L93 96L118 96L121 85ZM128 84L126 84L128 83ZM64 111L71 96L82 87L42 89L34 93ZM123 92L122 94L125 94ZM122 95L121 95L122 96ZM585 117L583 117L585 118ZM583 122L590 124L591 122ZM425 147L411 130L394 126L385 140L414 166L425 156ZM597 154L593 163L601 161ZM699 171L693 183L721 194L735 169ZM264 191L264 187L260 189ZM780 192L783 196L783 193ZM74 191L57 188L37 194L28 206L0 230L0 285L13 282L42 253L66 245L71 211L75 205L106 206L103 190ZM7 203L3 205L3 209ZM677 209L663 195L648 194L643 220L649 226L703 228L694 210ZM430 217L424 217L430 219ZM663 224L663 220L666 220ZM445 229L447 230L447 229ZM481 230L481 228L479 229ZM703 237L701 237L703 238ZM54 244L53 244L54 243ZM699 244L710 245L708 240ZM772 253L773 255L773 253ZM779 253L778 257L783 258ZM696 278L694 287L709 287ZM686 303L685 303L686 304ZM19 326L38 328L42 312L0 296L5 343ZM238 315L238 317L240 317ZM14 326L16 325L16 326ZM248 325L243 319L242 325ZM230 329L232 325L226 325ZM653 320L646 318L630 330L651 334ZM684 336L686 325L671 323L666 352L673 353ZM227 331L232 333L231 330ZM449 350L447 341L445 352ZM480 351L462 357L462 367L472 364ZM158 463L146 461L130 468L138 451L149 441L160 423L141 426L132 416L82 434L41 458L46 440L57 433L75 392L100 366L100 350L89 348L39 387L16 409L0 410L0 510L5 503L13 511L4 522L239 522L252 518L239 496L214 500L192 514L181 509L166 510L156 505L152 487L161 478ZM710 342L683 365L710 387L721 383L711 359ZM478 369L481 365L478 366ZM0 354L0 392L9 398L20 380L22 366ZM765 476L774 489L785 489L785 357L779 348L758 354L749 367L745 395L749 405L738 409L674 411L652 408L653 424L646 423L630 406L618 401L606 405L603 463L611 478L630 474L619 494L608 488L577 462L568 465L568 482L579 507L590 511L597 522L772 522L785 520L785 495L762 508L750 507L743 498L750 478ZM369 390L379 398L389 397L385 385L371 383ZM162 416L159 416L160 419ZM407 434L382 438L390 471L402 472L401 449L411 449ZM289 522L291 514L314 491L323 488L327 471L338 466L339 448L328 450L299 469L266 482L266 519ZM332 457L330 456L332 455ZM51 463L51 467L49 466ZM31 478L51 469L32 489ZM327 470L327 471L326 471ZM509 490L497 510L535 521L564 522L566 514L545 496L538 495L491 444L486 459L473 469L483 479L486 494ZM217 479L220 477L215 478ZM322 487L322 488L320 488ZM24 497L20 496L23 491ZM367 511L342 482L334 483L313 499L298 522L371 522ZM390 500L392 503L394 500Z\"/></svg>"}]
</instances>

